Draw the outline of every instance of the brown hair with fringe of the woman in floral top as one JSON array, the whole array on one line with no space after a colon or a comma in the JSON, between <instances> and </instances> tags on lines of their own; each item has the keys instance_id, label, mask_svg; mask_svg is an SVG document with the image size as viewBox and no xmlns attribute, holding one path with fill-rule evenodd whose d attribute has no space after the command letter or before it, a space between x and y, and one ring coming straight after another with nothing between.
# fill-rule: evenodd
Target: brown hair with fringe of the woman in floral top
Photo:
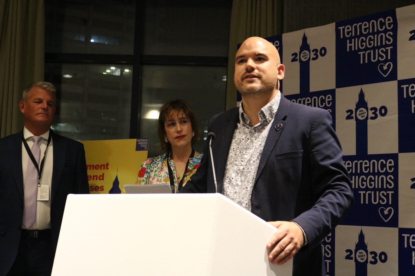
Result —
<instances>
[{"instance_id":1,"label":"brown hair with fringe of the woman in floral top","mask_svg":"<svg viewBox=\"0 0 415 276\"><path fill-rule=\"evenodd\" d=\"M182 111L190 120L190 123L192 124L192 131L195 133L195 136L192 137L192 147L198 142L199 139L198 120L196 120L195 113L193 112L190 105L186 103L186 101L183 101L181 99L168 101L160 108L160 115L158 120L160 145L161 149L163 149L166 152L171 150L171 144L164 140L167 136L166 129L164 128L164 122L170 119L170 115L173 110Z\"/></svg>"}]
</instances>

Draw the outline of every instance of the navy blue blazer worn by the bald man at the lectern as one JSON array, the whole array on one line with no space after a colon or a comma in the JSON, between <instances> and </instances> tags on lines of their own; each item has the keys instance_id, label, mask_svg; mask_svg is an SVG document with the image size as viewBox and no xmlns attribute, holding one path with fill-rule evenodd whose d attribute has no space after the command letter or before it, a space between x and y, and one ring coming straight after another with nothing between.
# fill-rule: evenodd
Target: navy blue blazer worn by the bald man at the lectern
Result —
<instances>
[{"instance_id":1,"label":"navy blue blazer worn by the bald man at the lectern","mask_svg":"<svg viewBox=\"0 0 415 276\"><path fill-rule=\"evenodd\" d=\"M212 155L218 192L223 187L227 156L239 121L238 110L227 110L210 122L209 131L216 136ZM320 241L353 203L352 185L342 156L330 113L290 102L281 95L259 161L251 211L265 221L295 221L304 229L308 244L293 258L295 276L326 275ZM215 192L208 142L200 167L181 192Z\"/></svg>"}]
</instances>

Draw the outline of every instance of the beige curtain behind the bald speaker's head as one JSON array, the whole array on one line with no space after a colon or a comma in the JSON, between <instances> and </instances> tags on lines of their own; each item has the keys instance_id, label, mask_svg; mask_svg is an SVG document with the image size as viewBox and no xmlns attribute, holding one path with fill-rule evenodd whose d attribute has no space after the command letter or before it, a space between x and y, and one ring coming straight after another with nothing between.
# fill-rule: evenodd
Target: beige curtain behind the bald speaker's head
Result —
<instances>
[{"instance_id":1,"label":"beige curtain behind the bald speaker's head","mask_svg":"<svg viewBox=\"0 0 415 276\"><path fill-rule=\"evenodd\" d=\"M229 34L226 109L236 106L234 85L237 44L250 36L274 36L282 30L282 0L234 0Z\"/></svg>"}]
</instances>

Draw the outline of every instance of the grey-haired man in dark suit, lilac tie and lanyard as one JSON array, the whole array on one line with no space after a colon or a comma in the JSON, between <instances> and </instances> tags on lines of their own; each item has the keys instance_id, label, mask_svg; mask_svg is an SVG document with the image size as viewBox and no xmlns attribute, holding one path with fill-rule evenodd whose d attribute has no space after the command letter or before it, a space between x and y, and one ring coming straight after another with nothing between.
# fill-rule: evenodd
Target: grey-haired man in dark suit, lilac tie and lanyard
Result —
<instances>
[{"instance_id":1,"label":"grey-haired man in dark suit, lilac tie and lanyard","mask_svg":"<svg viewBox=\"0 0 415 276\"><path fill-rule=\"evenodd\" d=\"M53 84L30 84L23 130L0 139L1 276L50 275L66 197L89 193L83 144L50 129L55 94Z\"/></svg>"}]
</instances>

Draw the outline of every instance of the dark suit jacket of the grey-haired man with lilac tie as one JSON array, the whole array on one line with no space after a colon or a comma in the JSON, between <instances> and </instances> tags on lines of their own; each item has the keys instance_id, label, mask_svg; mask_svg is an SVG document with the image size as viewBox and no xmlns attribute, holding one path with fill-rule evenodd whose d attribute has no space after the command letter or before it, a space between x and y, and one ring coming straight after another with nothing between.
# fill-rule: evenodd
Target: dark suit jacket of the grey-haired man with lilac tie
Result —
<instances>
[{"instance_id":1,"label":"dark suit jacket of the grey-haired man with lilac tie","mask_svg":"<svg viewBox=\"0 0 415 276\"><path fill-rule=\"evenodd\" d=\"M15 261L23 221L23 131L0 139L0 275ZM88 194L83 144L52 132L51 233L56 250L68 194ZM46 169L46 168L45 168Z\"/></svg>"}]
</instances>

